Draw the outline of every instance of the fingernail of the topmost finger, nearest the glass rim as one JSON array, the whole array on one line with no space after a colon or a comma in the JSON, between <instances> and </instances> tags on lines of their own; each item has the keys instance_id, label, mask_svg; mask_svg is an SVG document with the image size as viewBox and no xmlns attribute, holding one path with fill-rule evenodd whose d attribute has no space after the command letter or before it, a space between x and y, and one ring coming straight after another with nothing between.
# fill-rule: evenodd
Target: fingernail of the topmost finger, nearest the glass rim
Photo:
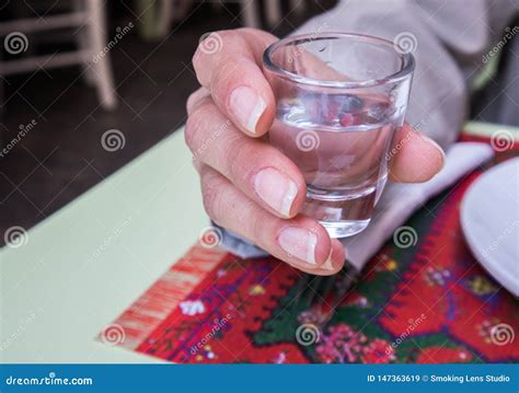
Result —
<instances>
[{"instance_id":1,"label":"fingernail of the topmost finger, nearest the glass rim","mask_svg":"<svg viewBox=\"0 0 519 393\"><path fill-rule=\"evenodd\" d=\"M232 91L231 111L249 132L256 134L256 125L267 107L265 101L251 88L240 86Z\"/></svg>"}]
</instances>

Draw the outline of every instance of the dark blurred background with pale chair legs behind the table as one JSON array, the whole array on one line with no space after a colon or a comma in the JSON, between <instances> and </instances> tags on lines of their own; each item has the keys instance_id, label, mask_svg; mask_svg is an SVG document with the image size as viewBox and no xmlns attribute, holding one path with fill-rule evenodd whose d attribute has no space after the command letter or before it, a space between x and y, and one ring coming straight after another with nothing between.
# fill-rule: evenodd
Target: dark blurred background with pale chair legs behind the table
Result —
<instances>
[{"instance_id":1,"label":"dark blurred background with pale chair legs behind the table","mask_svg":"<svg viewBox=\"0 0 519 393\"><path fill-rule=\"evenodd\" d=\"M282 36L335 3L0 1L0 233L35 226L181 127L206 34L247 25ZM517 97L517 51L515 35L486 65L471 118L519 125L499 105Z\"/></svg>"}]
</instances>

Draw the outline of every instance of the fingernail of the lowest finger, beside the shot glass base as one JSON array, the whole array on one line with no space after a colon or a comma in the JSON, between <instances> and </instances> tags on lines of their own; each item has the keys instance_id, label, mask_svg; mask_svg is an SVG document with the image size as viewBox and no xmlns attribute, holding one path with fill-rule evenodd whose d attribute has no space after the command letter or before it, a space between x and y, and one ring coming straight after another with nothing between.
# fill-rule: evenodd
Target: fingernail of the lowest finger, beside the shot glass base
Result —
<instances>
[{"instance_id":1,"label":"fingernail of the lowest finger, beside the shot glass base","mask_svg":"<svg viewBox=\"0 0 519 393\"><path fill-rule=\"evenodd\" d=\"M278 236L281 248L307 264L315 265L318 236L304 228L287 227Z\"/></svg>"}]
</instances>

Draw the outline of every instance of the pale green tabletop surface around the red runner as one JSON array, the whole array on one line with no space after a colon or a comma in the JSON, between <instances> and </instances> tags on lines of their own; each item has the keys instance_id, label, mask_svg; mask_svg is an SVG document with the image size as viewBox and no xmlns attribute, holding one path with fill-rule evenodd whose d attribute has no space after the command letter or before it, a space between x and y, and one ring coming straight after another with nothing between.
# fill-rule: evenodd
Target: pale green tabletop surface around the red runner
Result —
<instances>
[{"instance_id":1,"label":"pale green tabletop surface around the red runner","mask_svg":"<svg viewBox=\"0 0 519 393\"><path fill-rule=\"evenodd\" d=\"M519 128L465 128L519 139ZM196 241L209 222L201 206L178 130L31 229L25 245L1 248L0 360L158 361L94 337Z\"/></svg>"}]
</instances>

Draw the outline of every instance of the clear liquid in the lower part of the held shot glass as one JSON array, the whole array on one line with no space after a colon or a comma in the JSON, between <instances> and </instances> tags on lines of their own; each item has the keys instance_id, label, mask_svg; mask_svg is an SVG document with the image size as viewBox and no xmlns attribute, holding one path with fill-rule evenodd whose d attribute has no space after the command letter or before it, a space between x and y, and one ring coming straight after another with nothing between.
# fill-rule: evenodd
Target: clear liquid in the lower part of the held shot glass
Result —
<instances>
[{"instance_id":1,"label":"clear liquid in the lower part of the held shot glass","mask_svg":"<svg viewBox=\"0 0 519 393\"><path fill-rule=\"evenodd\" d=\"M278 103L269 141L307 182L302 213L332 238L369 223L388 178L388 159L403 109L377 95L308 93Z\"/></svg>"}]
</instances>

